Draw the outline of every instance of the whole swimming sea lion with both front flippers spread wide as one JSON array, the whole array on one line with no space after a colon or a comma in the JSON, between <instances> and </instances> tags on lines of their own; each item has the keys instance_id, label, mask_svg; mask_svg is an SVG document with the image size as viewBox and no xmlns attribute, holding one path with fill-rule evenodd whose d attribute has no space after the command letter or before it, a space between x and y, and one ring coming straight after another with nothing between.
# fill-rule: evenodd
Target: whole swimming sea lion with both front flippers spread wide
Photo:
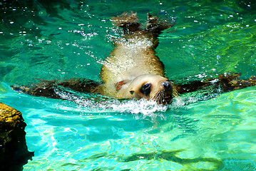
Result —
<instances>
[{"instance_id":1,"label":"whole swimming sea lion with both front flippers spread wide","mask_svg":"<svg viewBox=\"0 0 256 171\"><path fill-rule=\"evenodd\" d=\"M174 84L165 77L163 63L155 55L158 36L173 24L148 14L143 28L137 14L123 13L112 18L113 24L123 28L124 36L114 40L115 48L101 68L103 83L83 78L68 81L41 81L31 86L11 86L16 91L47 98L62 98L58 91L65 88L83 93L100 93L110 98L145 98L159 104L171 103L178 94L209 86L222 92L256 85L256 78L239 79L240 74L220 74L217 78Z\"/></svg>"}]
</instances>

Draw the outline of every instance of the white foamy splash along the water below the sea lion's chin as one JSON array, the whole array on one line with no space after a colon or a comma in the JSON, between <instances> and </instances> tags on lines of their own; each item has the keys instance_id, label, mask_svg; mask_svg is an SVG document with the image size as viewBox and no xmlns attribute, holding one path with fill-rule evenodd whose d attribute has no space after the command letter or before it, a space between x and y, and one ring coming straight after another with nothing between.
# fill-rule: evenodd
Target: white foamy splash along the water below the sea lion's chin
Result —
<instances>
[{"instance_id":1,"label":"white foamy splash along the water below the sea lion's chin","mask_svg":"<svg viewBox=\"0 0 256 171\"><path fill-rule=\"evenodd\" d=\"M81 113L131 113L142 115L143 118L155 118L168 109L181 108L185 104L180 98L173 99L171 105L160 105L153 100L118 100L84 93L69 93L57 91L56 93L64 100L69 100L78 105L76 111Z\"/></svg>"}]
</instances>

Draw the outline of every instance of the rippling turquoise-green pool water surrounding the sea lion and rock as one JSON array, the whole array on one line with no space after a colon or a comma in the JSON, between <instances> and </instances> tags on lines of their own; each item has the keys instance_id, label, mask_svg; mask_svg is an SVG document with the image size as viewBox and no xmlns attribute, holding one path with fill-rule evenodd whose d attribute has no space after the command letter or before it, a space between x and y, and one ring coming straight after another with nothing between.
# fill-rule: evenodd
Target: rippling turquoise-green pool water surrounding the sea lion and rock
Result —
<instances>
[{"instance_id":1,"label":"rippling turquoise-green pool water surrounding the sea lion and rock","mask_svg":"<svg viewBox=\"0 0 256 171\"><path fill-rule=\"evenodd\" d=\"M0 2L0 101L26 121L35 156L24 170L256 170L255 87L191 93L168 106L79 93L53 100L9 88L38 78L99 81L111 39L121 36L111 16L130 10L141 22L148 12L175 21L156 49L170 80L224 72L249 78L256 75L256 8L248 3Z\"/></svg>"}]
</instances>

